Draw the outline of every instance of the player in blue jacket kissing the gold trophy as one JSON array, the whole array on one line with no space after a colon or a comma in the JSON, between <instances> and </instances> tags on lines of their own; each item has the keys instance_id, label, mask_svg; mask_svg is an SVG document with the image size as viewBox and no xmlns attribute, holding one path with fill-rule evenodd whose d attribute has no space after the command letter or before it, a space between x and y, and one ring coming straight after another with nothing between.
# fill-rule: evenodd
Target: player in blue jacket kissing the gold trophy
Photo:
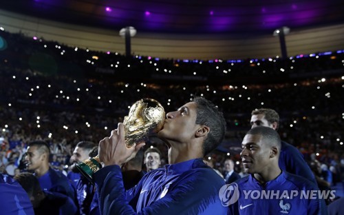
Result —
<instances>
[{"instance_id":1,"label":"player in blue jacket kissing the gold trophy","mask_svg":"<svg viewBox=\"0 0 344 215\"><path fill-rule=\"evenodd\" d=\"M127 148L124 127L99 143L104 167L94 174L101 214L226 214L219 189L224 179L202 158L224 138L226 122L210 101L196 97L166 114L158 137L169 147L169 165L152 170L125 191L120 165L144 145Z\"/></svg>"}]
</instances>

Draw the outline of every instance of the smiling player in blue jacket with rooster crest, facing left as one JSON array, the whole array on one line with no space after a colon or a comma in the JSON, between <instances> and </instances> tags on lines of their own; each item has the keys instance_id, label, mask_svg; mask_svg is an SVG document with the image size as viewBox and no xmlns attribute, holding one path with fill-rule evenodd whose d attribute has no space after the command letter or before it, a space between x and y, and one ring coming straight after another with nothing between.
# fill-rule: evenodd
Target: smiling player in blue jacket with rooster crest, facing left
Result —
<instances>
[{"instance_id":1,"label":"smiling player in blue jacket with rooster crest, facing left","mask_svg":"<svg viewBox=\"0 0 344 215\"><path fill-rule=\"evenodd\" d=\"M250 175L228 185L230 195L224 198L230 198L222 198L228 214L327 214L314 183L280 169L281 139L275 130L254 127L241 145L241 160Z\"/></svg>"}]
</instances>

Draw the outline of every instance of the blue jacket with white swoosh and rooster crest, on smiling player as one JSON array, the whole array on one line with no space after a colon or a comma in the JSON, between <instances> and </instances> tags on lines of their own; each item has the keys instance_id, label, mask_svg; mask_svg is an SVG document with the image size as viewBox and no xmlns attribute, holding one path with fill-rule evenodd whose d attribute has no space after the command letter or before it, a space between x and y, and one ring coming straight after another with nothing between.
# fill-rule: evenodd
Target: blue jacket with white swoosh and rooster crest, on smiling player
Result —
<instances>
[{"instance_id":1,"label":"blue jacket with white swoosh and rooster crest, on smiling player","mask_svg":"<svg viewBox=\"0 0 344 215\"><path fill-rule=\"evenodd\" d=\"M325 201L312 194L318 187L303 177L282 171L265 185L252 175L235 183L239 199L228 214L327 214Z\"/></svg>"}]
</instances>

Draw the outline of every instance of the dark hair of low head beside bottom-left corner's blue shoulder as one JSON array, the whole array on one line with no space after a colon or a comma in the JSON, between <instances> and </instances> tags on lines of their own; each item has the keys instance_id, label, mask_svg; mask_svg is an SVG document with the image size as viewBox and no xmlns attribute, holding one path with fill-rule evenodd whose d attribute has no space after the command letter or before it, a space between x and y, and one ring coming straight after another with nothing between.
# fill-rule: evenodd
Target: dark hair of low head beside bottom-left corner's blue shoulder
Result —
<instances>
[{"instance_id":1,"label":"dark hair of low head beside bottom-left corner's blue shoulder","mask_svg":"<svg viewBox=\"0 0 344 215\"><path fill-rule=\"evenodd\" d=\"M20 183L21 187L28 193L29 196L34 196L37 192L41 192L41 185L39 179L30 172L21 172L13 177L14 180Z\"/></svg>"}]
</instances>

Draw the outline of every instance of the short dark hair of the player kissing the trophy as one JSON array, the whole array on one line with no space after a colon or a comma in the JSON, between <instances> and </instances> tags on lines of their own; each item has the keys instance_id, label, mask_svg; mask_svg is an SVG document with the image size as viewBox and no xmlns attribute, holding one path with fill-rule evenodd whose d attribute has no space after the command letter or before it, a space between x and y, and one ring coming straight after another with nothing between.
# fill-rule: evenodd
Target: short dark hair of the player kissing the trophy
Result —
<instances>
[{"instance_id":1,"label":"short dark hair of the player kissing the trophy","mask_svg":"<svg viewBox=\"0 0 344 215\"><path fill-rule=\"evenodd\" d=\"M206 140L203 143L203 155L214 150L224 139L226 133L226 121L224 114L219 111L211 101L196 96L192 102L197 105L196 124L206 125L210 128Z\"/></svg>"}]
</instances>

